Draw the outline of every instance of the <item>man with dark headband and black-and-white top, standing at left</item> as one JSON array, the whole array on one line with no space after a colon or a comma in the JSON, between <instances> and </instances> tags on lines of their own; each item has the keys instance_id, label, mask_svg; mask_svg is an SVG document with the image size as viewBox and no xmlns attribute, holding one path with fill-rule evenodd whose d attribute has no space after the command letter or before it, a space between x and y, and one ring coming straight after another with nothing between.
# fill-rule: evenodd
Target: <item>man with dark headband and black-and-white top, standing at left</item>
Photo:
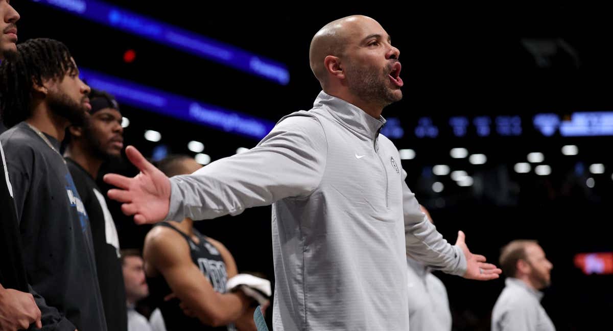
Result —
<instances>
[{"instance_id":1,"label":"man with dark headband and black-and-white top, standing at left","mask_svg":"<svg viewBox=\"0 0 613 331\"><path fill-rule=\"evenodd\" d=\"M92 89L89 103L91 110L85 123L67 129L64 157L89 215L107 327L126 331L128 318L119 239L104 194L96 185L102 162L120 157L123 148L122 116L113 96L103 91Z\"/></svg>"}]
</instances>

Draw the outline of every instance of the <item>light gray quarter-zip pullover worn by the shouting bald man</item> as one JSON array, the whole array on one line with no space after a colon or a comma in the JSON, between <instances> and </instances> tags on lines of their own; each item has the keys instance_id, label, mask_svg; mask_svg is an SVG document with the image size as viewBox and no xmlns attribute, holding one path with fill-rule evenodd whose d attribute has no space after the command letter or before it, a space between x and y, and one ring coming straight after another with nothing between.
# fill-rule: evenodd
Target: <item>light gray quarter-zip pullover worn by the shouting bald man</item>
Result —
<instances>
[{"instance_id":1,"label":"light gray quarter-zip pullover worn by the shouting bald man","mask_svg":"<svg viewBox=\"0 0 613 331\"><path fill-rule=\"evenodd\" d=\"M251 150L171 178L166 219L272 204L274 330L406 331L405 254L455 275L466 261L419 209L384 123L321 92Z\"/></svg>"}]
</instances>

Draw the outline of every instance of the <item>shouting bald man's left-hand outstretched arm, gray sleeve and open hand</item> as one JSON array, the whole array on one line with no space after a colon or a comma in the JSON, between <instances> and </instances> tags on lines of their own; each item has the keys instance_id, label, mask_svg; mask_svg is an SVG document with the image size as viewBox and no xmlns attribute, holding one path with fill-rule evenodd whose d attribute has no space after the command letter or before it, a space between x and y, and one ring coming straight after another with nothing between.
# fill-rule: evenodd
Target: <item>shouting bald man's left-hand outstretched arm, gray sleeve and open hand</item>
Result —
<instances>
[{"instance_id":1,"label":"shouting bald man's left-hand outstretched arm, gray sleeve and open hand","mask_svg":"<svg viewBox=\"0 0 613 331\"><path fill-rule=\"evenodd\" d=\"M210 219L237 215L285 197L308 196L321 181L326 153L319 121L292 116L251 150L170 179L128 146L126 154L140 169L139 175L109 174L104 180L118 186L109 191L109 197L123 202L121 209L134 215L136 223Z\"/></svg>"}]
</instances>

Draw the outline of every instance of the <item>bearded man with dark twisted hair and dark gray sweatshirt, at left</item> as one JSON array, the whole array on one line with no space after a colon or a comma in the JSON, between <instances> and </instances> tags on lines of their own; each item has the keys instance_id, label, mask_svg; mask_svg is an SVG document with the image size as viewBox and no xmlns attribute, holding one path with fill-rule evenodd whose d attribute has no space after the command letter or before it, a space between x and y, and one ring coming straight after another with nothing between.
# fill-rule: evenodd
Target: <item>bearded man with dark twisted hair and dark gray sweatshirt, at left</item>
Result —
<instances>
[{"instance_id":1,"label":"bearded man with dark twisted hair and dark gray sweatshirt, at left","mask_svg":"<svg viewBox=\"0 0 613 331\"><path fill-rule=\"evenodd\" d=\"M25 271L45 304L44 330L105 331L89 219L59 142L82 124L89 86L66 45L32 39L0 64L0 135L17 207ZM40 299L42 300L42 299ZM40 306L40 304L39 304Z\"/></svg>"}]
</instances>

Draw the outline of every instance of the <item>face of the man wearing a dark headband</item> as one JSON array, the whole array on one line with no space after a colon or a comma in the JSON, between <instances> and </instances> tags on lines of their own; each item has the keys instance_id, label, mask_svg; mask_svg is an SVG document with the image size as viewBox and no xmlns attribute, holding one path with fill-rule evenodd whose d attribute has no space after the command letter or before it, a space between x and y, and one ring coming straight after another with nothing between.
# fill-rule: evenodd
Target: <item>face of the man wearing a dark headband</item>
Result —
<instances>
[{"instance_id":1,"label":"face of the man wearing a dark headband","mask_svg":"<svg viewBox=\"0 0 613 331\"><path fill-rule=\"evenodd\" d=\"M87 117L83 135L89 148L104 159L120 156L123 148L123 127L119 110L103 108Z\"/></svg>"}]
</instances>

